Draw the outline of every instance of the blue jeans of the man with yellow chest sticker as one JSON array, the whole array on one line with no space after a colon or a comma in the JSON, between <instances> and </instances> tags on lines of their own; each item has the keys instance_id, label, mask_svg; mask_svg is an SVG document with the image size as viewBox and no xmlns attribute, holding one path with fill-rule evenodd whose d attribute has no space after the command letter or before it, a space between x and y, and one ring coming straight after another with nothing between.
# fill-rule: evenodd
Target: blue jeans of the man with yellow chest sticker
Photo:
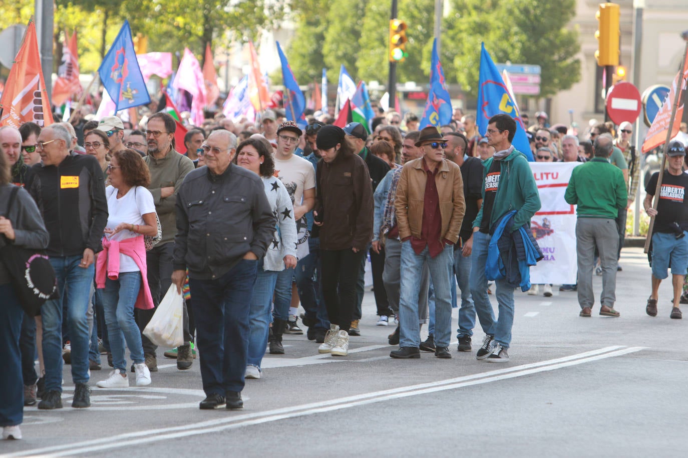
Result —
<instances>
[{"instance_id":1,"label":"blue jeans of the man with yellow chest sticker","mask_svg":"<svg viewBox=\"0 0 688 458\"><path fill-rule=\"evenodd\" d=\"M81 256L50 257L57 277L60 299L46 301L41 308L43 317L43 361L45 363L45 391L62 392L62 297L67 295L67 323L72 342L72 380L88 383L89 332L86 312L93 284L95 267L79 267Z\"/></svg>"}]
</instances>

